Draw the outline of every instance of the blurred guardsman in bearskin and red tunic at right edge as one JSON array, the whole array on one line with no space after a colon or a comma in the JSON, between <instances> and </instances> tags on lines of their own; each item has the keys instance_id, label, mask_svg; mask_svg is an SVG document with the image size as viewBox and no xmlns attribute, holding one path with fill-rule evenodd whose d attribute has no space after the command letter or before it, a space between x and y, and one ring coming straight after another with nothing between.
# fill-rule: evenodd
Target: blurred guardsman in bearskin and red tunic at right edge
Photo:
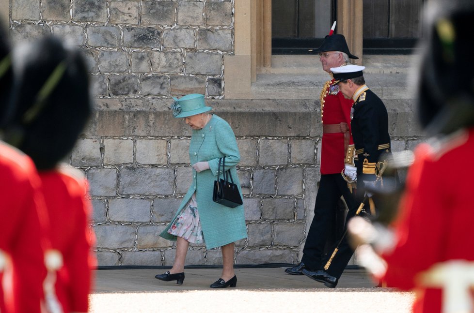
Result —
<instances>
[{"instance_id":1,"label":"blurred guardsman in bearskin and red tunic at right edge","mask_svg":"<svg viewBox=\"0 0 474 313\"><path fill-rule=\"evenodd\" d=\"M428 33L421 45L417 105L430 139L415 149L392 224L393 245L387 248L375 227L375 234L364 236L362 220L353 219L350 230L370 243L363 253L372 251L369 269L377 278L416 291L414 313L472 313L474 64L468 47L474 1L428 1L424 16ZM382 256L379 262L374 251Z\"/></svg>"}]
</instances>

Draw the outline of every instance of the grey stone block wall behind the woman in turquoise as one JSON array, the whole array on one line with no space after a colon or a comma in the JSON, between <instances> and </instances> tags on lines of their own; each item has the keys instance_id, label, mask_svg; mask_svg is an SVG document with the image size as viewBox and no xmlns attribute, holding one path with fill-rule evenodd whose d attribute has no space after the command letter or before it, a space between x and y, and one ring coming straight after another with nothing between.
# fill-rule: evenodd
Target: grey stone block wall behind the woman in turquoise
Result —
<instances>
[{"instance_id":1,"label":"grey stone block wall behind the woman in turquoise","mask_svg":"<svg viewBox=\"0 0 474 313\"><path fill-rule=\"evenodd\" d=\"M91 184L99 265L172 265L158 237L190 185L190 128L171 96L204 93L242 156L248 238L237 264L295 263L313 218L322 133L314 100L228 100L223 56L232 54L234 0L10 0L14 42L61 36L84 51L95 115L71 154ZM390 100L392 145L420 133L410 100ZM211 196L211 195L209 195ZM221 263L191 245L187 264Z\"/></svg>"}]
</instances>

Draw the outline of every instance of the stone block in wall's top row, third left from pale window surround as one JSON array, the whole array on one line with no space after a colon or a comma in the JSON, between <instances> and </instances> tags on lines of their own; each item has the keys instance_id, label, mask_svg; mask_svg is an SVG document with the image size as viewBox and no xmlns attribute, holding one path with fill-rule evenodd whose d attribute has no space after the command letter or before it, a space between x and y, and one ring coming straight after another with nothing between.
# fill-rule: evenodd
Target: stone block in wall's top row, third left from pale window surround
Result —
<instances>
[{"instance_id":1,"label":"stone block in wall's top row, third left from pale window surround","mask_svg":"<svg viewBox=\"0 0 474 313\"><path fill-rule=\"evenodd\" d=\"M175 1L143 1L142 24L172 25L176 10Z\"/></svg>"}]
</instances>

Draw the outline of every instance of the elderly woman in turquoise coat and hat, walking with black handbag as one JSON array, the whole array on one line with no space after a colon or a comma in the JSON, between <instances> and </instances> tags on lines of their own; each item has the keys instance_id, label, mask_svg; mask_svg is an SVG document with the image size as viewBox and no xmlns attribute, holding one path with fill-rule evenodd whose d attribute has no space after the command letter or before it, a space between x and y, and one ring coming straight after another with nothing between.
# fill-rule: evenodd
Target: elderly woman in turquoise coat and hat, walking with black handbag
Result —
<instances>
[{"instance_id":1,"label":"elderly woman in turquoise coat and hat, walking with black handbag","mask_svg":"<svg viewBox=\"0 0 474 313\"><path fill-rule=\"evenodd\" d=\"M184 196L172 222L160 234L176 240L176 255L173 268L155 278L162 281L184 281L184 264L191 243L205 242L207 249L221 247L222 274L210 285L211 288L235 287L234 242L247 238L243 206L228 208L212 201L214 181L223 171L230 170L234 183L242 191L237 177L236 165L240 161L237 140L230 125L205 105L204 95L189 94L174 98L172 105L175 118L184 118L192 128L190 142L190 164L192 183ZM220 159L225 157L225 169L220 168ZM221 176L222 177L222 176Z\"/></svg>"}]
</instances>

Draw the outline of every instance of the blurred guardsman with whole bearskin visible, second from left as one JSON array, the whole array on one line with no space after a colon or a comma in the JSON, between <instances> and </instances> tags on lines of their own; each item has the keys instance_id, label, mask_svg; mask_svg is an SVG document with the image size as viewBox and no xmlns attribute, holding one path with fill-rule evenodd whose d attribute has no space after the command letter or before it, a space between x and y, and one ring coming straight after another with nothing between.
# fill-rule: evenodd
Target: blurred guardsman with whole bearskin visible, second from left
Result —
<instances>
[{"instance_id":1,"label":"blurred guardsman with whole bearskin visible, second from left","mask_svg":"<svg viewBox=\"0 0 474 313\"><path fill-rule=\"evenodd\" d=\"M87 312L95 267L88 183L61 164L92 111L85 63L78 50L51 37L16 52L4 140L32 158L41 179L54 249L47 253L46 307Z\"/></svg>"}]
</instances>

